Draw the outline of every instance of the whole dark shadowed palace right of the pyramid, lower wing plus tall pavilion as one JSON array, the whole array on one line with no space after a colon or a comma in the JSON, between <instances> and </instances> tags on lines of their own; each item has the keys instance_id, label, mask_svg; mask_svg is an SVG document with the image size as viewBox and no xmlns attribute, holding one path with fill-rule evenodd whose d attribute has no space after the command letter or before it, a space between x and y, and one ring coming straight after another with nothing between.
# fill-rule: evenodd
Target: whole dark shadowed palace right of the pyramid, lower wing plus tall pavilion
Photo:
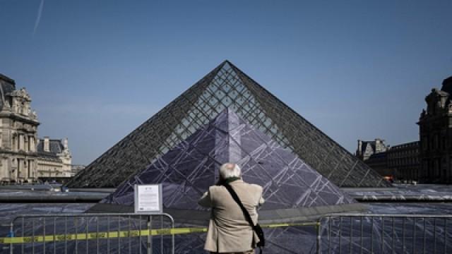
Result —
<instances>
[{"instance_id":1,"label":"whole dark shadowed palace right of the pyramid, lower wing plus tall pavilion","mask_svg":"<svg viewBox=\"0 0 452 254\"><path fill-rule=\"evenodd\" d=\"M381 152L376 147L377 140L358 140L357 157L383 176L395 180L451 184L452 77L443 81L441 90L432 89L425 102L427 110L422 110L417 122L420 141Z\"/></svg>"}]
</instances>

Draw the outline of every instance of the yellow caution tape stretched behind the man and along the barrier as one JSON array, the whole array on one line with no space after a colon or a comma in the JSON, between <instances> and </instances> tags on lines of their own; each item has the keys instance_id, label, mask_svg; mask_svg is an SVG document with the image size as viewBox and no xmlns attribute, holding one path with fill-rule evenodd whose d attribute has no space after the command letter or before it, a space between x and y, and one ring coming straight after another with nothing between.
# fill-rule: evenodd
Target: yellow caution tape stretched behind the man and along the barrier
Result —
<instances>
[{"instance_id":1,"label":"yellow caution tape stretched behind the man and along the barrier","mask_svg":"<svg viewBox=\"0 0 452 254\"><path fill-rule=\"evenodd\" d=\"M318 222L309 223L285 223L285 224L265 224L263 228L278 228L283 226L318 226ZM192 234L207 232L207 228L174 228L174 229L143 229L131 231L107 231L107 232L85 232L78 234L55 234L48 236L18 236L18 237L2 237L0 243L40 243L40 242L56 242L56 241L76 241L76 240L92 240L100 238L122 238L122 237L138 237L138 236L165 236L177 234Z\"/></svg>"}]
</instances>

